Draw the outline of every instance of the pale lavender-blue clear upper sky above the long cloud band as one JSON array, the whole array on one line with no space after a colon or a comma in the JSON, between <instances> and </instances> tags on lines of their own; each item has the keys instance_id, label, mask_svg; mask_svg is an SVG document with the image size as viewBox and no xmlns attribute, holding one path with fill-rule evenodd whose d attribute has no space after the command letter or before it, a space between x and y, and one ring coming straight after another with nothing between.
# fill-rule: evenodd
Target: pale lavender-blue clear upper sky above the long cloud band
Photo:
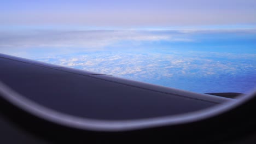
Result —
<instances>
[{"instance_id":1,"label":"pale lavender-blue clear upper sky above the long cloud band","mask_svg":"<svg viewBox=\"0 0 256 144\"><path fill-rule=\"evenodd\" d=\"M256 25L255 0L1 0L0 26Z\"/></svg>"}]
</instances>

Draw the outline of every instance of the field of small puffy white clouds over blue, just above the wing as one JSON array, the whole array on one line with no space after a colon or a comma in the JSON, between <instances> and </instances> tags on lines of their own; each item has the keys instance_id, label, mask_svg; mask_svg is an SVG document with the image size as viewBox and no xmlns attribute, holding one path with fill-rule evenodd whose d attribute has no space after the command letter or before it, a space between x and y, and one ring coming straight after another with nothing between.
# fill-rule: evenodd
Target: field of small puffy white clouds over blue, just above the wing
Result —
<instances>
[{"instance_id":1,"label":"field of small puffy white clouds over blue, just above the wing","mask_svg":"<svg viewBox=\"0 0 256 144\"><path fill-rule=\"evenodd\" d=\"M38 59L194 92L242 92L255 83L255 54L91 52Z\"/></svg>"}]
</instances>

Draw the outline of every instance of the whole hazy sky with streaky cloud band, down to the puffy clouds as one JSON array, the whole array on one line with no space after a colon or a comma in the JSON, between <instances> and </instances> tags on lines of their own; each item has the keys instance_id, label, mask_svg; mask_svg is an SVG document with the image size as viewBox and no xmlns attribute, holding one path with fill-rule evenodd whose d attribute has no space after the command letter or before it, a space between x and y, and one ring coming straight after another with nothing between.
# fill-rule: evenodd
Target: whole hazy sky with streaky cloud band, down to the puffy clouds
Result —
<instances>
[{"instance_id":1,"label":"whole hazy sky with streaky cloud band, down to the puffy clouds","mask_svg":"<svg viewBox=\"0 0 256 144\"><path fill-rule=\"evenodd\" d=\"M234 43L232 51L254 52L254 0L1 0L0 9L0 52L10 55L55 55L120 45L142 49L138 45L150 41L182 49L185 44L194 49L199 45L202 50L203 45L220 47L228 39L229 45Z\"/></svg>"}]
</instances>

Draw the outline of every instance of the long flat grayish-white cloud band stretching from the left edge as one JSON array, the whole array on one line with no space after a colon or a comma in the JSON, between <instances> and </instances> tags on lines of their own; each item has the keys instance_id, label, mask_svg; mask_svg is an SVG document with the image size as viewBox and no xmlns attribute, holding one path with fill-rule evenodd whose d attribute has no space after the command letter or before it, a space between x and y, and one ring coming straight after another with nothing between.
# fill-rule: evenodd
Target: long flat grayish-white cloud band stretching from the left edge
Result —
<instances>
[{"instance_id":1,"label":"long flat grayish-white cloud band stretching from the left edge","mask_svg":"<svg viewBox=\"0 0 256 144\"><path fill-rule=\"evenodd\" d=\"M176 37L174 37L176 36ZM36 47L65 48L72 47L95 49L120 41L192 41L177 35L154 33L149 31L19 31L2 32L0 49L30 49Z\"/></svg>"}]
</instances>

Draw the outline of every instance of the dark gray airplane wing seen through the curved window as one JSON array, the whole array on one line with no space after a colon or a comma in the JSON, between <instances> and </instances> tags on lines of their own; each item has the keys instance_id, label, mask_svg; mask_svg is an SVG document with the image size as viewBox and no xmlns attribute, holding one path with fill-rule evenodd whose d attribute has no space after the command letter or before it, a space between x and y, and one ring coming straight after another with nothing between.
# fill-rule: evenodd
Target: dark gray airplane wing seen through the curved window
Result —
<instances>
[{"instance_id":1,"label":"dark gray airplane wing seen through the curved window","mask_svg":"<svg viewBox=\"0 0 256 144\"><path fill-rule=\"evenodd\" d=\"M230 99L0 55L0 80L26 99L81 118L130 120L172 116Z\"/></svg>"}]
</instances>

